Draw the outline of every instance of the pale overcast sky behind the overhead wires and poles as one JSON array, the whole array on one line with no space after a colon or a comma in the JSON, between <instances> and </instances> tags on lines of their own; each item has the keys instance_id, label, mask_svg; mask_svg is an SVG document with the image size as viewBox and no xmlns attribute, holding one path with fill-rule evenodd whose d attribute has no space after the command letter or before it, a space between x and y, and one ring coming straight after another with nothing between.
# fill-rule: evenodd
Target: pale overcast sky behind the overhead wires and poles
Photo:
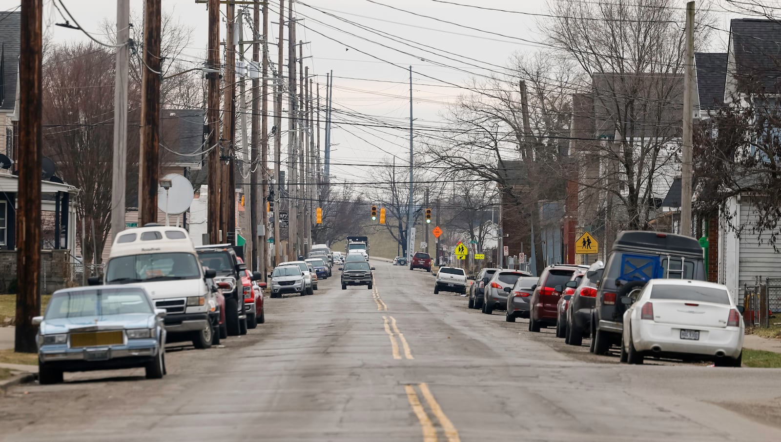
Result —
<instances>
[{"instance_id":1,"label":"pale overcast sky behind the overhead wires and poles","mask_svg":"<svg viewBox=\"0 0 781 442\"><path fill-rule=\"evenodd\" d=\"M551 0L552 1L552 0ZM15 1L18 5L18 1ZM67 9L78 20L84 30L102 41L100 34L103 20L116 20L116 3L112 0L63 0ZM333 106L369 117L349 118L334 113L332 154L332 175L337 180L365 181L370 174L370 166L346 166L347 164L373 164L383 158L397 155L397 165L408 162L408 117L409 87L408 66L412 65L412 94L416 124L437 126L440 124L440 112L452 102L462 90L440 82L463 84L469 80L468 72L490 73L499 71L507 64L513 52L533 52L540 45L527 41L544 41L540 26L544 22L538 16L516 12L544 13L547 11L545 0L453 0L464 4L480 5L494 9L507 9L515 12L497 12L469 8L460 5L448 5L435 0L305 0L296 1L296 16L302 17L303 27L298 28L297 38L310 41L305 45L304 55L310 73L316 73L321 87L325 87L325 74L333 70L334 81ZM11 2L9 2L12 4ZM382 4L385 5L382 5ZM131 9L141 16L143 2L130 0ZM680 16L683 22L684 0L679 0ZM194 41L185 50L185 59L197 63L203 62L207 45L207 12L203 4L194 0L163 0L163 10L173 14L194 30ZM270 21L277 22L279 3L272 0ZM408 12L394 10L406 9ZM224 11L224 6L223 6ZM327 14L331 14L330 16ZM719 14L718 26L729 29L729 14ZM340 20L342 19L342 20ZM446 20L457 23L442 23ZM54 7L52 0L45 0L45 32L52 35L55 42L84 40L79 30L70 30L53 26L63 20ZM387 33L398 41L373 34L355 26L372 27L381 33ZM141 27L142 23L134 23ZM271 24L272 37L276 42L278 25ZM469 27L475 28L469 29ZM488 34L488 32L495 34ZM221 37L224 38L224 23ZM250 30L247 28L247 34ZM501 35L497 35L501 34ZM714 48L726 44L726 33L716 32ZM408 39L422 45L429 45L456 55L448 57L460 62L431 55L419 48L410 48L401 42ZM525 40L525 41L522 41ZM383 45L390 48L383 47ZM433 50L433 49L429 49ZM276 47L271 47L272 59L276 61ZM365 53L362 53L365 52ZM408 52L405 54L403 52ZM436 51L435 51L436 52ZM441 52L440 52L441 53ZM463 58L465 57L465 58ZM287 59L287 51L286 51ZM437 66L436 62L452 66ZM389 63L390 62L390 63ZM392 64L391 64L392 63ZM395 65L395 66L394 66ZM477 69L478 65L483 69ZM457 68L457 69L454 69ZM467 72L465 72L467 71ZM398 129L362 127L350 123L372 123L367 118L379 119L383 124L399 126ZM376 121L374 122L376 123ZM283 123L284 128L287 123ZM283 128L283 129L284 129Z\"/></svg>"}]
</instances>

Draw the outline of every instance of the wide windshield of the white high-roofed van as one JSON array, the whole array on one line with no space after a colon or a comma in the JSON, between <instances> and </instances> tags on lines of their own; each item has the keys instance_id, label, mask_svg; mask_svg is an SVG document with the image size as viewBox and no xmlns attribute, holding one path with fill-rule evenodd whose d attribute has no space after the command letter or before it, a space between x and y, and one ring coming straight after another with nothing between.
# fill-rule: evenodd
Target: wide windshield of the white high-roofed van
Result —
<instances>
[{"instance_id":1,"label":"wide windshield of the white high-roofed van","mask_svg":"<svg viewBox=\"0 0 781 442\"><path fill-rule=\"evenodd\" d=\"M191 253L148 253L109 260L106 283L149 280L194 280L201 277L198 260Z\"/></svg>"}]
</instances>

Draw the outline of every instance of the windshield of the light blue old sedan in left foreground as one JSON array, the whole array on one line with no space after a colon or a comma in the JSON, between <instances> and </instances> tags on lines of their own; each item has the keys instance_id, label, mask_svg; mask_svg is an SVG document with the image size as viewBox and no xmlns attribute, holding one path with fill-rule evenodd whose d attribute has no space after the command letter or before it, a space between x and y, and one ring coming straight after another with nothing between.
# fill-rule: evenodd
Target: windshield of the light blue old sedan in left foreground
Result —
<instances>
[{"instance_id":1,"label":"windshield of the light blue old sedan in left foreground","mask_svg":"<svg viewBox=\"0 0 781 442\"><path fill-rule=\"evenodd\" d=\"M46 308L45 319L84 316L152 314L152 305L143 291L129 289L96 289L55 294Z\"/></svg>"}]
</instances>

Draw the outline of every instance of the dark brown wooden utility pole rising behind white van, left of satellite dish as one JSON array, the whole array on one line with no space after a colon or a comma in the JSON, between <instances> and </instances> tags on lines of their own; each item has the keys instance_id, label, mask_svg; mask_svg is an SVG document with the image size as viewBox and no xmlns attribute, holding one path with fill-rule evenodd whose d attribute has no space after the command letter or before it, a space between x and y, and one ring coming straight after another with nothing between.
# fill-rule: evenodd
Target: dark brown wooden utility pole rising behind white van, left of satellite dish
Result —
<instances>
[{"instance_id":1,"label":"dark brown wooden utility pole rising behind white van, left of satellite dish","mask_svg":"<svg viewBox=\"0 0 781 442\"><path fill-rule=\"evenodd\" d=\"M141 146L138 165L139 226L157 223L160 180L160 1L144 2L144 45L141 66Z\"/></svg>"}]
</instances>

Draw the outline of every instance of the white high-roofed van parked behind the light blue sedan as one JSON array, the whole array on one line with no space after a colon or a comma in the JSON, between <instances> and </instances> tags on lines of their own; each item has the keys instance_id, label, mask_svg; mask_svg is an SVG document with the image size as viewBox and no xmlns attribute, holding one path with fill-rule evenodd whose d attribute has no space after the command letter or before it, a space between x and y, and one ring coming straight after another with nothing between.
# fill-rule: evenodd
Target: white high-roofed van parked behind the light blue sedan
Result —
<instances>
[{"instance_id":1,"label":"white high-roofed van parked behind the light blue sedan","mask_svg":"<svg viewBox=\"0 0 781 442\"><path fill-rule=\"evenodd\" d=\"M196 348L209 348L216 331L210 315L216 300L207 279L214 276L214 270L201 267L187 230L148 224L116 235L103 283L144 286L155 308L166 309L169 337L178 335ZM100 280L91 278L90 283Z\"/></svg>"}]
</instances>

